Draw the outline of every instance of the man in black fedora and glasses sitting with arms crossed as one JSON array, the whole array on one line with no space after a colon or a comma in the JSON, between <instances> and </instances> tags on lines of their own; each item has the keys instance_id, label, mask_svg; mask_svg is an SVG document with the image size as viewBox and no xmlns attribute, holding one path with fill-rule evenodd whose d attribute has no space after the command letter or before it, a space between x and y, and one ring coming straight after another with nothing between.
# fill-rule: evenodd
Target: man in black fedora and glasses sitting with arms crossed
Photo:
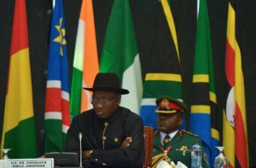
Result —
<instances>
[{"instance_id":1,"label":"man in black fedora and glasses sitting with arms crossed","mask_svg":"<svg viewBox=\"0 0 256 168\"><path fill-rule=\"evenodd\" d=\"M131 110L120 107L121 95L115 73L96 75L90 103L93 108L73 118L67 131L66 151L79 154L82 137L84 167L143 167L143 120Z\"/></svg>"}]
</instances>

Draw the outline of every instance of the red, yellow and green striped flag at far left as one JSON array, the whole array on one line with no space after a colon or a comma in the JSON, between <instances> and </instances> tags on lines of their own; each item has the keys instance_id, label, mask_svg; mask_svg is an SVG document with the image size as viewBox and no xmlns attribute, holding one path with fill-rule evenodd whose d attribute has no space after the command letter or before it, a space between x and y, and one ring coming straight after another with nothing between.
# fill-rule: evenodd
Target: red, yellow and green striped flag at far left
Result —
<instances>
[{"instance_id":1,"label":"red, yellow and green striped flag at far left","mask_svg":"<svg viewBox=\"0 0 256 168\"><path fill-rule=\"evenodd\" d=\"M15 1L1 148L11 148L8 153L10 159L38 157L32 103L26 0Z\"/></svg>"}]
</instances>

